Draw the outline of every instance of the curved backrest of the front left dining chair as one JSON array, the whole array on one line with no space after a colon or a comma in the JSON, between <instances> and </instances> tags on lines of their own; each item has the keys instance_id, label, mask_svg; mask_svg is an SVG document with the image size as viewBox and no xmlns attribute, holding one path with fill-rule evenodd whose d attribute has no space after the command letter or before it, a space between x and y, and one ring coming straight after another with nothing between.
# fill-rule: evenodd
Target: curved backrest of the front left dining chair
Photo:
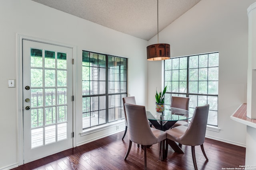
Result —
<instances>
[{"instance_id":1,"label":"curved backrest of the front left dining chair","mask_svg":"<svg viewBox=\"0 0 256 170\"><path fill-rule=\"evenodd\" d=\"M145 106L124 104L126 109L130 141L140 145L153 145L159 139L152 133L148 124Z\"/></svg>"}]
</instances>

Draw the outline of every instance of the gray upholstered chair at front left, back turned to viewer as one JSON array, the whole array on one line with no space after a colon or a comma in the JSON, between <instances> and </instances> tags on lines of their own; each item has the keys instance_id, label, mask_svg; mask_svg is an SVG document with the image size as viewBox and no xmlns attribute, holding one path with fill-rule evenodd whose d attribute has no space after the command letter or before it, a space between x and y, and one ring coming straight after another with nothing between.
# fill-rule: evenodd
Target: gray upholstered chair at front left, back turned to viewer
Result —
<instances>
[{"instance_id":1,"label":"gray upholstered chair at front left, back turned to viewer","mask_svg":"<svg viewBox=\"0 0 256 170\"><path fill-rule=\"evenodd\" d=\"M124 160L128 157L128 154L132 147L132 142L144 146L144 169L147 169L147 157L146 150L147 145L154 145L160 143L159 160L162 160L162 147L164 147L163 140L166 140L166 132L154 129L149 126L146 115L145 106L139 106L134 104L124 104L126 109L126 117L128 123L128 135L129 135L129 148L124 157Z\"/></svg>"}]
</instances>

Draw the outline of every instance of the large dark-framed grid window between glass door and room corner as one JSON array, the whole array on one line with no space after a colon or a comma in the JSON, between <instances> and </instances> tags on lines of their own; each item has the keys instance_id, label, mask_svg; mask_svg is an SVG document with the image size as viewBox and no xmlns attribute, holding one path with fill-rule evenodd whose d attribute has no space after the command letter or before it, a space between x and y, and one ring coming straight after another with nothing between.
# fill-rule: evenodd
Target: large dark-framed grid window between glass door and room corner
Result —
<instances>
[{"instance_id":1,"label":"large dark-framed grid window between glass door and room corner","mask_svg":"<svg viewBox=\"0 0 256 170\"><path fill-rule=\"evenodd\" d=\"M83 129L124 118L122 98L127 96L126 60L83 51Z\"/></svg>"}]
</instances>

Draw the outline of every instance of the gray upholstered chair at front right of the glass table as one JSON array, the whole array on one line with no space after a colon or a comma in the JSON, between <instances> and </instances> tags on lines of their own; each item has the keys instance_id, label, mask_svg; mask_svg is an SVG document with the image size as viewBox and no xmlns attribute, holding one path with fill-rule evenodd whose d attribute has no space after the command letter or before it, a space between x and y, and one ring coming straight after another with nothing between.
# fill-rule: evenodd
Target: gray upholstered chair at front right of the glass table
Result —
<instances>
[{"instance_id":1,"label":"gray upholstered chair at front right of the glass table","mask_svg":"<svg viewBox=\"0 0 256 170\"><path fill-rule=\"evenodd\" d=\"M172 129L168 129L166 143L178 142L182 145L191 146L192 149L192 158L194 163L194 168L197 170L196 165L196 155L195 155L195 146L200 145L204 157L208 161L208 158L204 152L204 139L206 133L206 125L208 119L209 105L198 106L194 110L194 115L190 121L188 127L186 126L177 126ZM166 145L166 156L168 151L168 144Z\"/></svg>"}]
</instances>

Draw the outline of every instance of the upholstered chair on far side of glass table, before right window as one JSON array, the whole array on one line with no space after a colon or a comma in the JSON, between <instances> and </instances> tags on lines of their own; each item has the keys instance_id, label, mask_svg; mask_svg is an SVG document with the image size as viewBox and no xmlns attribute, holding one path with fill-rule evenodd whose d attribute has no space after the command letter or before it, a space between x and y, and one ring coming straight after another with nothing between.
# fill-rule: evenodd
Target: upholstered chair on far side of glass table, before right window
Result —
<instances>
[{"instance_id":1,"label":"upholstered chair on far side of glass table, before right window","mask_svg":"<svg viewBox=\"0 0 256 170\"><path fill-rule=\"evenodd\" d=\"M171 107L176 107L176 108L188 110L188 104L189 104L189 98L172 96ZM186 121L179 120L172 127L177 127L177 126L180 126L180 125L188 126L188 120L186 120Z\"/></svg>"}]
</instances>

